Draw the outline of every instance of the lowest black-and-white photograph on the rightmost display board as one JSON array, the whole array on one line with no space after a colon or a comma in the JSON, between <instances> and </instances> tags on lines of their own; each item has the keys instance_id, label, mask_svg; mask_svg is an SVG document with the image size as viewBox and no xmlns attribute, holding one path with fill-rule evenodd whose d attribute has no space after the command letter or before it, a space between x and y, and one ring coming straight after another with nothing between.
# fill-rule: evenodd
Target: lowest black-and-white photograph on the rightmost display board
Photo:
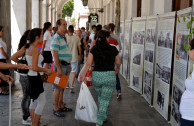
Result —
<instances>
[{"instance_id":1,"label":"lowest black-and-white photograph on the rightmost display board","mask_svg":"<svg viewBox=\"0 0 194 126\"><path fill-rule=\"evenodd\" d=\"M181 114L179 111L179 105L174 100L172 101L172 116L174 117L175 121L180 125Z\"/></svg>"}]
</instances>

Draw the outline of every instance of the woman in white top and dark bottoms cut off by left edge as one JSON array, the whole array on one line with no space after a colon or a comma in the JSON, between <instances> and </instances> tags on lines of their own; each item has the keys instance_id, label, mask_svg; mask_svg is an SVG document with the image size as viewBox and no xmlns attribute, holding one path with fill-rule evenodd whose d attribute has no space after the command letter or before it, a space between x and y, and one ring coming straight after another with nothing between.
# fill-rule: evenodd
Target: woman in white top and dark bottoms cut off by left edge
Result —
<instances>
[{"instance_id":1,"label":"woman in white top and dark bottoms cut off by left edge","mask_svg":"<svg viewBox=\"0 0 194 126\"><path fill-rule=\"evenodd\" d=\"M7 54L7 45L3 41L3 26L0 26L0 62L6 63L9 60L9 56ZM9 69L0 70L2 74L10 75ZM4 84L4 87L7 87L8 84ZM3 87L0 87L0 94L8 95L9 92L6 91Z\"/></svg>"}]
</instances>

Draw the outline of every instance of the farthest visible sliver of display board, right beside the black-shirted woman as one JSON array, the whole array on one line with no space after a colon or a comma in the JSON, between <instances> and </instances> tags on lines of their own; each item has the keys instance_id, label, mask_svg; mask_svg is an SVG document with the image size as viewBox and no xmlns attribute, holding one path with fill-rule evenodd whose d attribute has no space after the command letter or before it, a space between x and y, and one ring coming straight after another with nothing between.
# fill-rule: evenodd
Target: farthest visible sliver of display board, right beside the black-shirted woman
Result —
<instances>
[{"instance_id":1,"label":"farthest visible sliver of display board, right beside the black-shirted woman","mask_svg":"<svg viewBox=\"0 0 194 126\"><path fill-rule=\"evenodd\" d=\"M121 66L120 66L120 74L123 75L123 46L124 46L124 21L120 22L120 35L119 38L121 40L121 47L122 50L120 53L120 58L121 58Z\"/></svg>"}]
</instances>

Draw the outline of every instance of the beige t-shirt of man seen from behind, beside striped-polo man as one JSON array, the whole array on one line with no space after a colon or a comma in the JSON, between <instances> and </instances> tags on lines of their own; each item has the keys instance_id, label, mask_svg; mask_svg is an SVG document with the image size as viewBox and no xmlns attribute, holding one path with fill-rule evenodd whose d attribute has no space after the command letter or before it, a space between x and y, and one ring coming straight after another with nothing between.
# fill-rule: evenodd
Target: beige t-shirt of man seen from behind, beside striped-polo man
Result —
<instances>
[{"instance_id":1,"label":"beige t-shirt of man seen from behind, beside striped-polo man","mask_svg":"<svg viewBox=\"0 0 194 126\"><path fill-rule=\"evenodd\" d=\"M66 36L69 49L72 53L71 62L78 61L78 46L81 45L80 39L78 36Z\"/></svg>"}]
</instances>

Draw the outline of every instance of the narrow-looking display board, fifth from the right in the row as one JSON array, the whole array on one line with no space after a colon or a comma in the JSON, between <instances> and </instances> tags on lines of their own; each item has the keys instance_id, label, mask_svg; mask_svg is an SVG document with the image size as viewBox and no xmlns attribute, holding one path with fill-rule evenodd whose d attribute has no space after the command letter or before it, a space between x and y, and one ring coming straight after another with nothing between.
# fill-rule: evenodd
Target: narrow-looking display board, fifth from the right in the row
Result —
<instances>
[{"instance_id":1,"label":"narrow-looking display board, fifth from the right in the row","mask_svg":"<svg viewBox=\"0 0 194 126\"><path fill-rule=\"evenodd\" d=\"M131 34L131 20L125 21L125 39L124 39L124 46L123 46L123 77L129 82L129 56L131 50L130 44L130 34Z\"/></svg>"}]
</instances>

